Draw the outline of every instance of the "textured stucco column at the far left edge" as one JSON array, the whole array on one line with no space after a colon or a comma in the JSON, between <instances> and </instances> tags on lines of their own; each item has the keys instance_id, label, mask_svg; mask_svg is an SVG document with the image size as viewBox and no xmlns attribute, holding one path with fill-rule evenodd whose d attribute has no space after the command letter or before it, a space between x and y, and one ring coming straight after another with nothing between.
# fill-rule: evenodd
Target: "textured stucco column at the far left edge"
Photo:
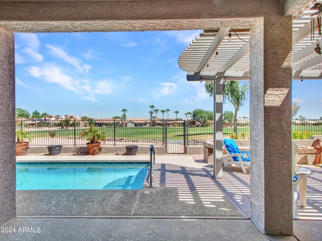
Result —
<instances>
[{"instance_id":1,"label":"textured stucco column at the far left edge","mask_svg":"<svg viewBox=\"0 0 322 241\"><path fill-rule=\"evenodd\" d=\"M16 217L15 38L0 29L0 225Z\"/></svg>"}]
</instances>

